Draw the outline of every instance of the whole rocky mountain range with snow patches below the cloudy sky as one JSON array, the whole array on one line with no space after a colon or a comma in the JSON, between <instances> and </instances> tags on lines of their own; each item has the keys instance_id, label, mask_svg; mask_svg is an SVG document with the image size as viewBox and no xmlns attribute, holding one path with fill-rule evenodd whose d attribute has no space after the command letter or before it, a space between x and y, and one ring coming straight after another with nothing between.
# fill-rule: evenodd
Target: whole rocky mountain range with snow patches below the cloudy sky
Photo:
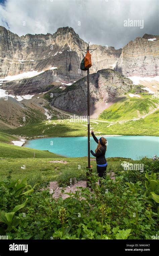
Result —
<instances>
[{"instance_id":1,"label":"whole rocky mountain range with snow patches below the cloudy sky","mask_svg":"<svg viewBox=\"0 0 159 256\"><path fill-rule=\"evenodd\" d=\"M85 56L80 50L87 46L69 27L58 28L54 34L19 37L0 26L0 91L9 94L8 101L0 99L1 127L17 127L25 115L34 119L36 111L42 113L42 120L46 119L46 105L54 110L85 113L87 72L80 69ZM157 91L159 36L145 34L123 49L96 44L90 45L90 49L96 49L90 68L92 112L99 115L110 102L130 90ZM143 88L134 85L134 77L138 77L136 84L144 85ZM8 109L7 104L12 107ZM99 104L102 107L97 111ZM13 109L19 114L9 123Z\"/></svg>"}]
</instances>

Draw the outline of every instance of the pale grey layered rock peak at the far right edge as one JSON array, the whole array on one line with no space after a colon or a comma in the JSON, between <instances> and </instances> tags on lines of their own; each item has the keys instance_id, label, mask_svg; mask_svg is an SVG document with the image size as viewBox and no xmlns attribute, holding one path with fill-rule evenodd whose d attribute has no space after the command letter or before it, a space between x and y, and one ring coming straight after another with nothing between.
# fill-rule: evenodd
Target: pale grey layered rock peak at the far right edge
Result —
<instances>
[{"instance_id":1,"label":"pale grey layered rock peak at the far right edge","mask_svg":"<svg viewBox=\"0 0 159 256\"><path fill-rule=\"evenodd\" d=\"M126 44L115 70L125 76L159 75L159 36L145 34Z\"/></svg>"}]
</instances>

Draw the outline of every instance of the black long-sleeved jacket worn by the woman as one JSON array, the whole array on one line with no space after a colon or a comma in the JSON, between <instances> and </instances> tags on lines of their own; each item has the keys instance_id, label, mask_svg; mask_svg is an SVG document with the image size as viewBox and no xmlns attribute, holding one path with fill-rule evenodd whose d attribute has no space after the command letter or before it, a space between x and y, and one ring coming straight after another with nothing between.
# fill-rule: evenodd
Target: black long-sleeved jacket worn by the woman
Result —
<instances>
[{"instance_id":1,"label":"black long-sleeved jacket worn by the woman","mask_svg":"<svg viewBox=\"0 0 159 256\"><path fill-rule=\"evenodd\" d=\"M92 134L94 140L98 143L98 139L94 135L94 133L92 132L91 134ZM97 164L105 164L107 162L107 160L105 159L105 152L106 152L106 146L103 146L103 145L100 148L100 150L98 150L96 153L94 153L91 150L91 154L96 157Z\"/></svg>"}]
</instances>

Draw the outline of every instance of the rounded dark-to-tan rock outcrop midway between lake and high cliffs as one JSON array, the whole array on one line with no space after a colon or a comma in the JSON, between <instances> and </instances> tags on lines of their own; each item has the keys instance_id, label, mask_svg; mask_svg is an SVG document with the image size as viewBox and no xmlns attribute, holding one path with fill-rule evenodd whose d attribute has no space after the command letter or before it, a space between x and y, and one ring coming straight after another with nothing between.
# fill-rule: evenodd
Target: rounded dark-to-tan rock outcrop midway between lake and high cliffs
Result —
<instances>
[{"instance_id":1,"label":"rounded dark-to-tan rock outcrop midway between lake and high cliffs","mask_svg":"<svg viewBox=\"0 0 159 256\"><path fill-rule=\"evenodd\" d=\"M133 86L130 79L111 69L99 70L90 75L90 105L99 101L105 103L129 91ZM53 98L47 98L51 105L69 111L70 113L83 113L87 109L87 76L67 87L64 91L52 91Z\"/></svg>"}]
</instances>

